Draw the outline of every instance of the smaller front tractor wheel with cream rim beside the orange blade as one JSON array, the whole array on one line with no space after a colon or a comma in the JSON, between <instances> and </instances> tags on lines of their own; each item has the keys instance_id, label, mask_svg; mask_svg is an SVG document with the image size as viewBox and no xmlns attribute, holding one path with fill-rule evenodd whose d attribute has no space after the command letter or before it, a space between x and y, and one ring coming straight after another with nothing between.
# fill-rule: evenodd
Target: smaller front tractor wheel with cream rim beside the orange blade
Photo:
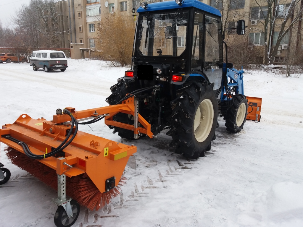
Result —
<instances>
[{"instance_id":1,"label":"smaller front tractor wheel with cream rim beside the orange blade","mask_svg":"<svg viewBox=\"0 0 303 227\"><path fill-rule=\"evenodd\" d=\"M247 99L241 94L234 95L234 102L225 115L226 130L231 133L240 132L247 115Z\"/></svg>"}]
</instances>

